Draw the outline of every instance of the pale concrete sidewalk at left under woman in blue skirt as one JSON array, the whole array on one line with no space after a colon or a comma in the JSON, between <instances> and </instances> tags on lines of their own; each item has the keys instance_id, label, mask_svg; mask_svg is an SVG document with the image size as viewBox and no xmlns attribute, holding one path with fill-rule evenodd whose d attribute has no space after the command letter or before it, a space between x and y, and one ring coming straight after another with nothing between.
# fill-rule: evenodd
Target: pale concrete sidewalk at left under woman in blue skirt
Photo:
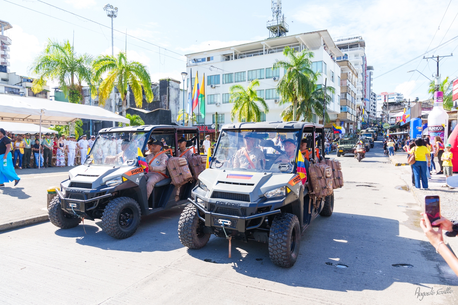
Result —
<instances>
[{"instance_id":1,"label":"pale concrete sidewalk at left under woman in blue skirt","mask_svg":"<svg viewBox=\"0 0 458 305\"><path fill-rule=\"evenodd\" d=\"M46 190L68 179L69 167L16 170L21 181L0 187L0 232L48 220ZM25 199L25 200L24 200Z\"/></svg>"}]
</instances>

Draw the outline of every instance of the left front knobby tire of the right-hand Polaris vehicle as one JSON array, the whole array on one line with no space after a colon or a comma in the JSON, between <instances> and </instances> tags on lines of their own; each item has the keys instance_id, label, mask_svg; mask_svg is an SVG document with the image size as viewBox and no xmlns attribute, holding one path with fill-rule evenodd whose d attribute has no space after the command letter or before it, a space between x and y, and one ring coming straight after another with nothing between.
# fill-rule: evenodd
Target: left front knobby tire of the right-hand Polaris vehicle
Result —
<instances>
[{"instance_id":1,"label":"left front knobby tire of the right-hand Polaris vehicle","mask_svg":"<svg viewBox=\"0 0 458 305\"><path fill-rule=\"evenodd\" d=\"M181 212L178 222L178 238L183 246L191 249L200 249L207 245L210 235L203 233L203 221L197 216L197 209L193 204L188 204Z\"/></svg>"}]
</instances>

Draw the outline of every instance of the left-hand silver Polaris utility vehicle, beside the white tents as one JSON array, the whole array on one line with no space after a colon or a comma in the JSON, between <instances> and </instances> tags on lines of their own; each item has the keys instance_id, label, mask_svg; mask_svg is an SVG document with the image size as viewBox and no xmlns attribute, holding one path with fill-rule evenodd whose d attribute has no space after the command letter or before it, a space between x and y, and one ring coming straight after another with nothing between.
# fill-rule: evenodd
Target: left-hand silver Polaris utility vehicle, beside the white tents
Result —
<instances>
[{"instance_id":1,"label":"left-hand silver Polaris utility vehicle, beside the white tents","mask_svg":"<svg viewBox=\"0 0 458 305\"><path fill-rule=\"evenodd\" d=\"M146 177L137 159L138 149L145 153L148 139L165 139L173 156L183 135L195 137L197 127L143 125L105 128L99 131L83 165L72 168L67 180L56 189L57 196L49 203L49 220L62 229L77 226L82 218L102 219L101 227L110 236L127 238L135 233L142 215L186 203L196 182L176 188L166 178L153 188L148 198ZM167 155L171 155L167 152ZM168 171L166 172L169 176Z\"/></svg>"}]
</instances>

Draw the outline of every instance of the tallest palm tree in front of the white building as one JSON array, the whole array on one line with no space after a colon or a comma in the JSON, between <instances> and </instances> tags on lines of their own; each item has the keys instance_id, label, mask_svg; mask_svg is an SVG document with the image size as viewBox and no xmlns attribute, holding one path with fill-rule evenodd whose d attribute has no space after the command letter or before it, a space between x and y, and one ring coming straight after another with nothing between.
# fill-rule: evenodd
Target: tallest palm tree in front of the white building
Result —
<instances>
[{"instance_id":1,"label":"tallest palm tree in front of the white building","mask_svg":"<svg viewBox=\"0 0 458 305\"><path fill-rule=\"evenodd\" d=\"M311 58L314 56L311 50L297 52L294 48L286 47L283 54L288 60L277 59L272 69L285 69L285 74L278 81L277 92L282 96L280 104L292 103L292 117L296 118L298 103L304 101L315 90L320 74L311 70Z\"/></svg>"}]
</instances>

